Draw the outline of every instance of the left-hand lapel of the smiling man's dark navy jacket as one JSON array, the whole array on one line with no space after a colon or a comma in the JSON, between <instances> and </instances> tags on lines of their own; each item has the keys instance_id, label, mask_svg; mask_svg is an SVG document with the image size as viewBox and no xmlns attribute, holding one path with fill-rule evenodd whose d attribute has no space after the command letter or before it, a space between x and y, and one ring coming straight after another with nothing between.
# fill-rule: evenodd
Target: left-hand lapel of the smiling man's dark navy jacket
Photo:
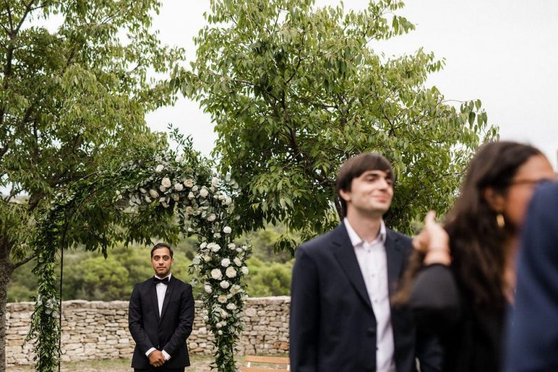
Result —
<instances>
[{"instance_id":1,"label":"left-hand lapel of the smiling man's dark navy jacket","mask_svg":"<svg viewBox=\"0 0 558 372\"><path fill-rule=\"evenodd\" d=\"M345 275L349 278L351 285L355 288L362 300L370 307L372 310L372 304L370 303L370 298L368 296L368 291L366 291L366 285L364 285L364 278L362 278L362 272L360 271L360 266L358 265L358 260L355 255L355 250L347 234L347 229L341 223L333 232L333 254L335 258L339 261Z\"/></svg>"}]
</instances>

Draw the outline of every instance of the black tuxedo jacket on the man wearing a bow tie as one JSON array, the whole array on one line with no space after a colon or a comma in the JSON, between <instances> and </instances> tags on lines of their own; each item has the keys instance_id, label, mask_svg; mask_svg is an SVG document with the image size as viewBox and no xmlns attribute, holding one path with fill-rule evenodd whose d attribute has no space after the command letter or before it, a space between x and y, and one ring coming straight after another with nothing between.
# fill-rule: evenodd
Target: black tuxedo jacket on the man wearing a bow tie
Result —
<instances>
[{"instance_id":1,"label":"black tuxedo jacket on the man wearing a bow tie","mask_svg":"<svg viewBox=\"0 0 558 372\"><path fill-rule=\"evenodd\" d=\"M153 278L134 286L130 298L128 324L136 342L132 367L148 369L147 350L154 347L165 350L171 358L166 368L183 368L190 365L186 339L194 323L194 296L192 286L171 276L159 316L157 291Z\"/></svg>"}]
</instances>

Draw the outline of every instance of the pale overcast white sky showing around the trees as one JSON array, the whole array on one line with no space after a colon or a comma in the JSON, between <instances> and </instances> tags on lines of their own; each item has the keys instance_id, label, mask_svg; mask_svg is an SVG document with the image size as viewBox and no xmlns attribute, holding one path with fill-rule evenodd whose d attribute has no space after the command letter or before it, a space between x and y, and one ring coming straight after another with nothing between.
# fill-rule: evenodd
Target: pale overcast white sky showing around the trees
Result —
<instances>
[{"instance_id":1,"label":"pale overcast white sky showing around the trees","mask_svg":"<svg viewBox=\"0 0 558 372\"><path fill-rule=\"evenodd\" d=\"M318 0L317 6L337 3ZM355 10L366 3L344 1L345 8ZM192 39L205 24L205 11L209 0L165 0L154 28L164 43L185 48L192 61ZM558 1L408 0L399 14L417 29L382 43L386 54L422 46L445 58L446 67L428 85L436 85L446 99L480 99L502 139L535 145L557 166ZM216 139L209 115L186 99L149 114L147 123L161 131L173 123L191 134L194 146L206 155Z\"/></svg>"}]
</instances>

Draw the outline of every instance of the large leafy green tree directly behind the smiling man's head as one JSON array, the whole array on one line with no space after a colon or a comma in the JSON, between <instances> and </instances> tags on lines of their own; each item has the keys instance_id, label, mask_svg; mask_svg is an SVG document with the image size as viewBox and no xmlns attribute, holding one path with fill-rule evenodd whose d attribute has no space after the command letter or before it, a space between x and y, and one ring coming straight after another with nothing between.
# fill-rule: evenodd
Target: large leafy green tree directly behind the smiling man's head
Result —
<instances>
[{"instance_id":1,"label":"large leafy green tree directly behind the smiling man's head","mask_svg":"<svg viewBox=\"0 0 558 372\"><path fill-rule=\"evenodd\" d=\"M360 12L313 3L212 0L196 60L172 85L211 114L219 167L245 190L245 229L285 222L302 238L331 229L336 172L373 151L397 177L386 224L410 232L426 209L446 211L472 152L497 128L480 101L454 105L426 87L444 64L433 53L376 52L378 41L414 29L396 14L402 1ZM291 234L278 240L295 244Z\"/></svg>"}]
</instances>

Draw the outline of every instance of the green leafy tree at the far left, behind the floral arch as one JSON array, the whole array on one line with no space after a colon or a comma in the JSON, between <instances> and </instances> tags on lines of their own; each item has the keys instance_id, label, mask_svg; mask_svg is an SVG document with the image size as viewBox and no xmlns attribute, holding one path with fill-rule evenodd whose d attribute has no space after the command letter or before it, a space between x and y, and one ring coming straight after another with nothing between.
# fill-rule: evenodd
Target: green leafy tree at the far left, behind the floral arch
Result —
<instances>
[{"instance_id":1,"label":"green leafy tree at the far left, behind the floral arch","mask_svg":"<svg viewBox=\"0 0 558 372\"><path fill-rule=\"evenodd\" d=\"M33 227L52 195L139 147L165 138L145 112L173 102L149 78L181 59L150 30L160 6L147 1L7 0L0 5L0 365L5 362L6 288L34 258ZM50 27L47 27L49 25ZM122 156L119 156L122 154ZM16 198L18 196L18 198ZM102 208L69 242L110 244ZM149 226L149 225L148 225ZM147 229L147 227L145 227Z\"/></svg>"}]
</instances>

